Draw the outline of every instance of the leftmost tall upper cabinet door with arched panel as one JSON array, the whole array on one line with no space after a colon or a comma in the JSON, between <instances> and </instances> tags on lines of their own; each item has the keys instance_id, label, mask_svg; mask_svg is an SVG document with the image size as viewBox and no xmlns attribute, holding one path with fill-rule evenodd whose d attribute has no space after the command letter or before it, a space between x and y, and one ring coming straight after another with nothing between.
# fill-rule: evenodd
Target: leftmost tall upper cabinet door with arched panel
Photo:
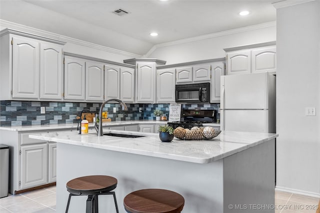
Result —
<instances>
[{"instance_id":1,"label":"leftmost tall upper cabinet door with arched panel","mask_svg":"<svg viewBox=\"0 0 320 213\"><path fill-rule=\"evenodd\" d=\"M12 98L39 98L39 43L13 37Z\"/></svg>"}]
</instances>

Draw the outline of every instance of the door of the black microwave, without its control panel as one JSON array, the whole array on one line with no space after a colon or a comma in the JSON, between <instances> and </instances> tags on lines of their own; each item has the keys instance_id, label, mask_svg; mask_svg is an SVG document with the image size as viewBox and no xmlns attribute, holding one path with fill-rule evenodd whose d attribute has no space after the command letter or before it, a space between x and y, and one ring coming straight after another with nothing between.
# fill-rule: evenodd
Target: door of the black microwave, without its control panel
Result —
<instances>
[{"instance_id":1,"label":"door of the black microwave, without its control panel","mask_svg":"<svg viewBox=\"0 0 320 213\"><path fill-rule=\"evenodd\" d=\"M201 102L201 87L175 85L175 102Z\"/></svg>"}]
</instances>

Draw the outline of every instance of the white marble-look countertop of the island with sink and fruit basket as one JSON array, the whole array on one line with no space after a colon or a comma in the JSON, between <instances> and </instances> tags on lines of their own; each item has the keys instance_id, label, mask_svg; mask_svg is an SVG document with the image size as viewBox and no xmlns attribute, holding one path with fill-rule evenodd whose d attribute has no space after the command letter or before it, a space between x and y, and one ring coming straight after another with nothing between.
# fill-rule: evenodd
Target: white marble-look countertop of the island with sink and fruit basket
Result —
<instances>
[{"instance_id":1,"label":"white marble-look countertop of the island with sink and fruit basket","mask_svg":"<svg viewBox=\"0 0 320 213\"><path fill-rule=\"evenodd\" d=\"M140 138L98 137L90 130L87 135L77 132L31 134L30 138L93 147L110 151L205 164L241 152L277 137L276 134L222 131L211 140L183 141L174 138L170 143L160 141L157 133L103 130L104 133L142 135Z\"/></svg>"}]
</instances>

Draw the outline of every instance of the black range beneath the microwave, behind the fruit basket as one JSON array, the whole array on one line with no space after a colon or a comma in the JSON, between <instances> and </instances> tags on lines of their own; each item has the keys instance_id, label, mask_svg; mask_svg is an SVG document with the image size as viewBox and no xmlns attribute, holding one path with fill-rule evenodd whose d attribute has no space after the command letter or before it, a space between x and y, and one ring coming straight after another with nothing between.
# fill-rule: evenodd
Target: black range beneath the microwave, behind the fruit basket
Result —
<instances>
[{"instance_id":1,"label":"black range beneath the microwave, behind the fruit basket","mask_svg":"<svg viewBox=\"0 0 320 213\"><path fill-rule=\"evenodd\" d=\"M168 122L168 126L182 127L191 129L192 127L201 127L203 123L213 123L216 121L215 110L181 110L181 120L176 122Z\"/></svg>"}]
</instances>

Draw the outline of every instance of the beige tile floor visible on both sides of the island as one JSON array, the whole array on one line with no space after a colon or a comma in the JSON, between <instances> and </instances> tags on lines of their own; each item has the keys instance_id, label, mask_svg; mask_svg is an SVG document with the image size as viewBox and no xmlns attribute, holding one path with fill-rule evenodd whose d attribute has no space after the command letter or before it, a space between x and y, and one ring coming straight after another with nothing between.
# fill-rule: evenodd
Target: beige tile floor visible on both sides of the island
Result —
<instances>
[{"instance_id":1,"label":"beige tile floor visible on both sides of the island","mask_svg":"<svg viewBox=\"0 0 320 213\"><path fill-rule=\"evenodd\" d=\"M318 198L275 191L275 213L315 213L318 202ZM55 213L55 186L1 198L0 213Z\"/></svg>"}]
</instances>

